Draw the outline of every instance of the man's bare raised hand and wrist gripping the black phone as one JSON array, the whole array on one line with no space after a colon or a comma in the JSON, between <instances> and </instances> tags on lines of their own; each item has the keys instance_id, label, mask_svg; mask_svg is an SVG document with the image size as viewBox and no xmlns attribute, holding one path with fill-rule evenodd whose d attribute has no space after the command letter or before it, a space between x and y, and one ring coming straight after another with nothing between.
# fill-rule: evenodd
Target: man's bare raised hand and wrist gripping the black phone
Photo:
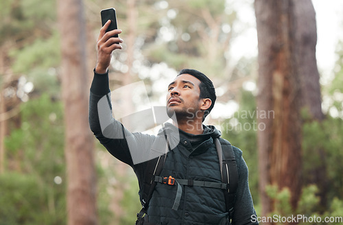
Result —
<instances>
[{"instance_id":1,"label":"man's bare raised hand and wrist gripping the black phone","mask_svg":"<svg viewBox=\"0 0 343 225\"><path fill-rule=\"evenodd\" d=\"M106 32L106 29L109 25L110 21L107 21L104 27L100 29L99 38L97 38L97 65L95 67L96 73L106 73L107 68L110 66L112 51L114 51L115 49L121 49L120 43L123 43L123 40L121 40L121 38L113 38L115 34L121 33L121 29L114 29L110 32Z\"/></svg>"}]
</instances>

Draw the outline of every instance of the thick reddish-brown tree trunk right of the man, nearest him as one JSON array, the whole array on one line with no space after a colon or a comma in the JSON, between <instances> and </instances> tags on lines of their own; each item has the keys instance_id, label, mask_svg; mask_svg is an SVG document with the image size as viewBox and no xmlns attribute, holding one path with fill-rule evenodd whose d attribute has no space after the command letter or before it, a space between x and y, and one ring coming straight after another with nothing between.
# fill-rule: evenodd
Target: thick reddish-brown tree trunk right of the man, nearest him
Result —
<instances>
[{"instance_id":1,"label":"thick reddish-brown tree trunk right of the man, nearest him","mask_svg":"<svg viewBox=\"0 0 343 225\"><path fill-rule=\"evenodd\" d=\"M255 0L262 215L272 211L272 202L265 193L266 185L287 187L292 193L294 208L301 191L300 78L296 63L294 4L296 1Z\"/></svg>"}]
</instances>

